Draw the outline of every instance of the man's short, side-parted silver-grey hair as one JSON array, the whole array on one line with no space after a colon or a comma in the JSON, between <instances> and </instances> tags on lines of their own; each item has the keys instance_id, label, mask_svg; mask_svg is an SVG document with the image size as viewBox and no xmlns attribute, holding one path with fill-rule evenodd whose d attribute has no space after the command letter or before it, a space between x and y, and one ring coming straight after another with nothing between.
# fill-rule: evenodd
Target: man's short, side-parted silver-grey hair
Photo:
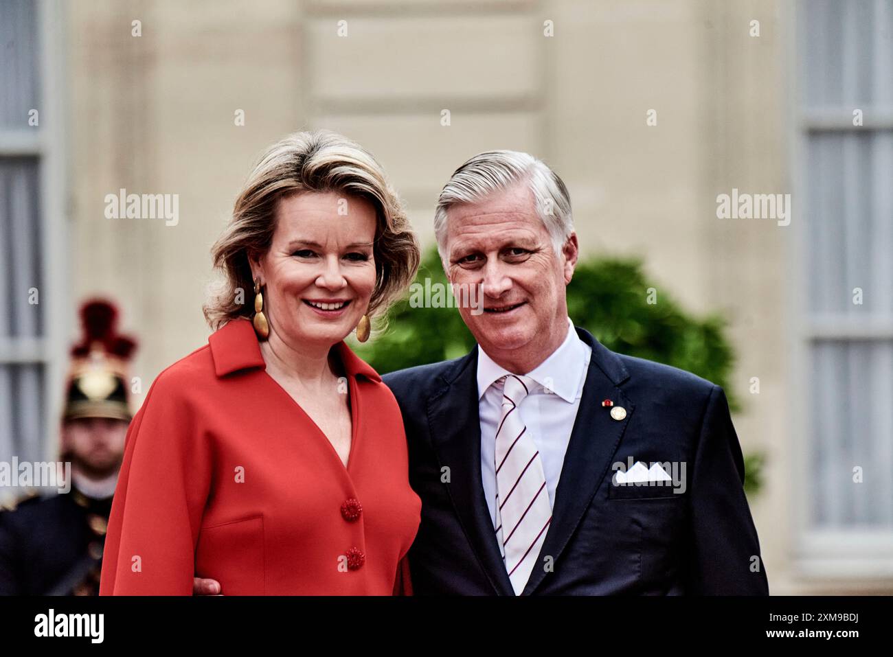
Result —
<instances>
[{"instance_id":1,"label":"man's short, side-parted silver-grey hair","mask_svg":"<svg viewBox=\"0 0 893 657\"><path fill-rule=\"evenodd\" d=\"M473 204L486 196L527 182L537 204L555 254L561 254L564 242L571 237L571 195L562 179L545 162L533 155L517 151L479 153L453 172L438 198L434 212L434 236L438 241L440 260L447 266L447 210L454 205Z\"/></svg>"}]
</instances>

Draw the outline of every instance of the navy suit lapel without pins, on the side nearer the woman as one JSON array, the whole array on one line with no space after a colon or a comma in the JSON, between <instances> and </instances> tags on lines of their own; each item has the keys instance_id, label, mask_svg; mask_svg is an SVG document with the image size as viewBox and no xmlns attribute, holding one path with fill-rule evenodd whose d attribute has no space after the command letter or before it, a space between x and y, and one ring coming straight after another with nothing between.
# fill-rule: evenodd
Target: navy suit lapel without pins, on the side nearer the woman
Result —
<instances>
[{"instance_id":1,"label":"navy suit lapel without pins, on the side nearer the woman","mask_svg":"<svg viewBox=\"0 0 893 657\"><path fill-rule=\"evenodd\" d=\"M447 486L465 536L497 594L513 595L480 478L478 349L441 375L444 384L431 395L428 421L441 467L448 467Z\"/></svg>"}]
</instances>

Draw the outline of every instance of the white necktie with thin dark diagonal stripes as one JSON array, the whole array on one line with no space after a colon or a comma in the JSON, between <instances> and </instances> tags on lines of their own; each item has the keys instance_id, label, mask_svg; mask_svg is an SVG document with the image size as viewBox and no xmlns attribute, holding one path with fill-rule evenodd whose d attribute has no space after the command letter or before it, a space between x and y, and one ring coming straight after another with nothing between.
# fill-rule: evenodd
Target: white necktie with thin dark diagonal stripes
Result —
<instances>
[{"instance_id":1,"label":"white necktie with thin dark diagonal stripes","mask_svg":"<svg viewBox=\"0 0 893 657\"><path fill-rule=\"evenodd\" d=\"M537 445L518 407L536 386L532 378L510 374L503 383L502 417L496 437L497 542L515 595L521 595L538 561L552 521L546 475Z\"/></svg>"}]
</instances>

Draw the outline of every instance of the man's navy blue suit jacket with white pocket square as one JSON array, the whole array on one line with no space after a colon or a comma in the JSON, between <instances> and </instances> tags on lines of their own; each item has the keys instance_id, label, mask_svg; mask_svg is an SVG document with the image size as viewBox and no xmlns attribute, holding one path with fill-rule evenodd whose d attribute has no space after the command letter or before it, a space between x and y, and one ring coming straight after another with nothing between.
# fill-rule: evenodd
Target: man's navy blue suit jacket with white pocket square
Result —
<instances>
[{"instance_id":1,"label":"man's navy blue suit jacket with white pocket square","mask_svg":"<svg viewBox=\"0 0 893 657\"><path fill-rule=\"evenodd\" d=\"M768 595L722 388L576 330L592 358L552 524L523 595ZM409 552L416 595L513 595L480 478L479 348L383 377L403 412L410 483L421 496ZM613 420L605 399L626 417ZM684 493L613 485L613 463L628 457L684 462Z\"/></svg>"}]
</instances>

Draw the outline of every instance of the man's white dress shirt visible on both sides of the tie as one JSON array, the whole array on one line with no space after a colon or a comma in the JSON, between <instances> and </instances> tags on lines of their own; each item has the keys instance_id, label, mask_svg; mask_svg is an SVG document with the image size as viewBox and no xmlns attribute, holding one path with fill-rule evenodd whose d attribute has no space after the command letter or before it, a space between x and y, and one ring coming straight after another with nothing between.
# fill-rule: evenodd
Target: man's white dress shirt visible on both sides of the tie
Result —
<instances>
[{"instance_id":1,"label":"man's white dress shirt visible on both sides of the tie","mask_svg":"<svg viewBox=\"0 0 893 657\"><path fill-rule=\"evenodd\" d=\"M555 507L555 487L561 477L564 453L577 419L583 384L589 369L592 347L580 340L573 322L567 320L564 342L537 368L522 372L538 383L518 407L524 426L539 450L546 475L549 505ZM511 374L491 359L478 345L478 399L480 411L480 478L490 520L496 528L497 478L493 460L497 425L502 417L502 387L493 384Z\"/></svg>"}]
</instances>

